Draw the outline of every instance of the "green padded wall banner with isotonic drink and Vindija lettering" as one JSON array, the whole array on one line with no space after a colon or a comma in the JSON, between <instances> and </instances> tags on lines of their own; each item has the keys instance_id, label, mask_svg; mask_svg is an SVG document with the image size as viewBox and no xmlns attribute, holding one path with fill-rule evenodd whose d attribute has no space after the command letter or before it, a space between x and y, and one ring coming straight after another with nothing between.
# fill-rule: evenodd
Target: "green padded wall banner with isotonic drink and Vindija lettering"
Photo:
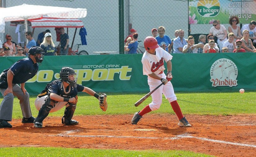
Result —
<instances>
[{"instance_id":1,"label":"green padded wall banner with isotonic drink and Vindija lettering","mask_svg":"<svg viewBox=\"0 0 256 157\"><path fill-rule=\"evenodd\" d=\"M256 90L256 53L172 54L175 91ZM74 68L78 84L96 92L149 92L142 75L142 54L45 56L36 76L26 82L30 95L59 79L62 67ZM21 57L0 57L0 71ZM166 63L165 63L166 67Z\"/></svg>"}]
</instances>

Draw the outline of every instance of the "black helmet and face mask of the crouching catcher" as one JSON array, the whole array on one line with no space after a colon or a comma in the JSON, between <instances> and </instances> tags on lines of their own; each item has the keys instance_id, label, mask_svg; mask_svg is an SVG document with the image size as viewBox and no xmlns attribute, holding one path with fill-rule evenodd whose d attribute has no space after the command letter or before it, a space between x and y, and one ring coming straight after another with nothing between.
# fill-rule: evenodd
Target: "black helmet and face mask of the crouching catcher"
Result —
<instances>
[{"instance_id":1,"label":"black helmet and face mask of the crouching catcher","mask_svg":"<svg viewBox=\"0 0 256 157\"><path fill-rule=\"evenodd\" d=\"M77 74L74 69L63 67L60 72L61 81L67 82L72 87L76 87Z\"/></svg>"}]
</instances>

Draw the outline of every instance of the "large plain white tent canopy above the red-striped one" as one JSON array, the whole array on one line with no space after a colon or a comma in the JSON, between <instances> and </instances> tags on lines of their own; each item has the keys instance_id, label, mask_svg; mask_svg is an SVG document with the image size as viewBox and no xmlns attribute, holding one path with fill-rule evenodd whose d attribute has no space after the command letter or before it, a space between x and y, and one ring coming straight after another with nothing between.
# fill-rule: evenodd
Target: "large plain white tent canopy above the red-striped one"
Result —
<instances>
[{"instance_id":1,"label":"large plain white tent canopy above the red-striped one","mask_svg":"<svg viewBox=\"0 0 256 157\"><path fill-rule=\"evenodd\" d=\"M6 14L6 12L8 12L8 14ZM87 15L87 9L22 4L20 6L0 9L0 26L5 25L4 22L7 21L25 20L25 29L27 31L27 21L40 19L43 15L65 19L83 18ZM0 29L0 31L1 30L2 33L4 33L4 29Z\"/></svg>"}]
</instances>

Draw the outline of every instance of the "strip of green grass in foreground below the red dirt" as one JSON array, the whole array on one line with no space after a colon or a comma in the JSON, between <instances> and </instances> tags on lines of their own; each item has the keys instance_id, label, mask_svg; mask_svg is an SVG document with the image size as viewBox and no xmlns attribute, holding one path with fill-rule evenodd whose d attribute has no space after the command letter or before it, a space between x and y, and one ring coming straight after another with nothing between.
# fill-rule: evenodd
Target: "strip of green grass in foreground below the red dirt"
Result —
<instances>
[{"instance_id":1,"label":"strip of green grass in foreground below the red dirt","mask_svg":"<svg viewBox=\"0 0 256 157\"><path fill-rule=\"evenodd\" d=\"M191 151L184 150L100 150L100 149L76 149L76 148L35 148L35 147L14 147L14 148L0 148L0 156L12 156L12 157L94 157L94 156L122 156L122 157L206 157L210 155L193 153Z\"/></svg>"}]
</instances>

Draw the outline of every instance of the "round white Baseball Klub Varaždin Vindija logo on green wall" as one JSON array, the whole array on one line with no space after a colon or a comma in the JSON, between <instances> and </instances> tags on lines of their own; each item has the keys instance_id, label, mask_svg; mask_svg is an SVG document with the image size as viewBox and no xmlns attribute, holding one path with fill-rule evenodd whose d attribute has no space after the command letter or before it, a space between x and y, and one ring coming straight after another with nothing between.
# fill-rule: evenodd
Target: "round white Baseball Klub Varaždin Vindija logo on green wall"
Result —
<instances>
[{"instance_id":1,"label":"round white Baseball Klub Vara\u017edin Vindija logo on green wall","mask_svg":"<svg viewBox=\"0 0 256 157\"><path fill-rule=\"evenodd\" d=\"M218 59L213 63L210 69L210 81L213 87L237 86L237 74L238 70L233 61L226 58Z\"/></svg>"}]
</instances>

